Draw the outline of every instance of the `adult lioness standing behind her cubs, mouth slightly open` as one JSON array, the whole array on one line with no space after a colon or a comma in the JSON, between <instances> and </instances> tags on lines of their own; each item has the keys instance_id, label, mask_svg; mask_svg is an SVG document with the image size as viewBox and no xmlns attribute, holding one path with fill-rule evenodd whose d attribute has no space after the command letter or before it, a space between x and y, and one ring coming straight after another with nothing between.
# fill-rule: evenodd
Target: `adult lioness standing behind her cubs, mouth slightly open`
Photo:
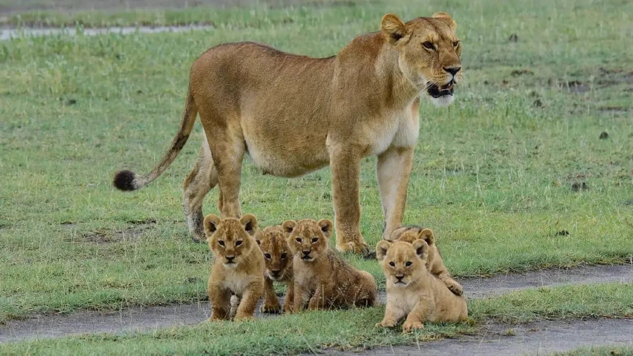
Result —
<instances>
[{"instance_id":1,"label":"adult lioness standing behind her cubs, mouth slightly open","mask_svg":"<svg viewBox=\"0 0 633 356\"><path fill-rule=\"evenodd\" d=\"M420 129L420 92L436 105L453 101L463 75L456 22L447 13L404 23L382 18L381 30L359 35L339 54L309 58L253 42L220 44L191 67L180 129L145 175L115 174L135 190L154 181L184 146L196 115L205 140L184 183L187 227L203 236L202 203L220 185L223 217L239 217L244 153L263 174L296 177L332 167L339 251L367 253L360 232L361 158L378 156L384 236L401 226L413 148Z\"/></svg>"}]
</instances>

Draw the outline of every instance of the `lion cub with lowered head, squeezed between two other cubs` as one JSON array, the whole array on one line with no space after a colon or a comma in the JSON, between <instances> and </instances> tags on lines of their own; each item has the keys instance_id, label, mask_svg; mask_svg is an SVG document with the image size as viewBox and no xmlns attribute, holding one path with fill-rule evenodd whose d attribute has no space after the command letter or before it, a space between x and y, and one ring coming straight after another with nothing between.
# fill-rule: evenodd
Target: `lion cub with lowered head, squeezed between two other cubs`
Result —
<instances>
[{"instance_id":1,"label":"lion cub with lowered head, squeezed between two other cubs","mask_svg":"<svg viewBox=\"0 0 633 356\"><path fill-rule=\"evenodd\" d=\"M264 272L264 304L263 313L279 313L282 308L275 295L273 281L285 283L284 313L292 311L294 300L294 277L292 273L292 253L285 241L284 229L281 225L268 226L258 234L256 241L266 263Z\"/></svg>"}]
</instances>

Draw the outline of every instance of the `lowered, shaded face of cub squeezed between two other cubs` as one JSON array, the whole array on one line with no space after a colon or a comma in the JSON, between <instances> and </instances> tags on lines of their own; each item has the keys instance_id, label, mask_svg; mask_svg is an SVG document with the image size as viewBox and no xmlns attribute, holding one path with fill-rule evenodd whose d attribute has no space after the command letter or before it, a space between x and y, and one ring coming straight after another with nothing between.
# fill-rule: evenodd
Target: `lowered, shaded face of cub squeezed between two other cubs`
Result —
<instances>
[{"instance_id":1,"label":"lowered, shaded face of cub squeezed between two other cubs","mask_svg":"<svg viewBox=\"0 0 633 356\"><path fill-rule=\"evenodd\" d=\"M275 225L263 229L255 239L264 254L266 274L273 281L282 279L292 265L292 253L285 238L282 226Z\"/></svg>"}]
</instances>

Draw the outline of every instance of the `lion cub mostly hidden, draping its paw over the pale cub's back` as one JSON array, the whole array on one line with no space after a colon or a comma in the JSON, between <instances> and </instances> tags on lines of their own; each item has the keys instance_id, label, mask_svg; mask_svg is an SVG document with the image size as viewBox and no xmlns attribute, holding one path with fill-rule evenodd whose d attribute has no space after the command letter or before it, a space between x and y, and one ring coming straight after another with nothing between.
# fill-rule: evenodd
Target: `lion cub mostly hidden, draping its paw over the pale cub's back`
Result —
<instances>
[{"instance_id":1,"label":"lion cub mostly hidden, draping its paw over the pale cub's back","mask_svg":"<svg viewBox=\"0 0 633 356\"><path fill-rule=\"evenodd\" d=\"M453 293L461 295L464 289L461 287L461 284L451 278L451 274L448 272L446 267L444 267L444 261L442 261L442 257L439 255L439 250L435 244L435 237L433 236L433 231L431 231L431 229L422 229L422 227L418 226L398 227L398 229L391 232L387 241L405 241L413 243L413 241L417 239L423 239L427 245L429 245L429 262L427 262L427 269L429 269L429 272L431 272L433 276L441 279L441 281L444 282L448 289L451 289Z\"/></svg>"}]
</instances>

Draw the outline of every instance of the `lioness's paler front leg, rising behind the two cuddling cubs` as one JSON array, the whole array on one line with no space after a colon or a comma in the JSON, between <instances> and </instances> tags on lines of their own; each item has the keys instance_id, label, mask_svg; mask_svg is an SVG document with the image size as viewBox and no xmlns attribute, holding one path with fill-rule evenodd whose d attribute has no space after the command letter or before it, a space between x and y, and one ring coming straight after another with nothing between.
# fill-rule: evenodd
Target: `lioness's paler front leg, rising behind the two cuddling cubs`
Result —
<instances>
[{"instance_id":1,"label":"lioness's paler front leg, rising behind the two cuddling cubs","mask_svg":"<svg viewBox=\"0 0 633 356\"><path fill-rule=\"evenodd\" d=\"M383 239L402 225L412 163L413 147L391 147L378 156L378 187L385 217Z\"/></svg>"}]
</instances>

